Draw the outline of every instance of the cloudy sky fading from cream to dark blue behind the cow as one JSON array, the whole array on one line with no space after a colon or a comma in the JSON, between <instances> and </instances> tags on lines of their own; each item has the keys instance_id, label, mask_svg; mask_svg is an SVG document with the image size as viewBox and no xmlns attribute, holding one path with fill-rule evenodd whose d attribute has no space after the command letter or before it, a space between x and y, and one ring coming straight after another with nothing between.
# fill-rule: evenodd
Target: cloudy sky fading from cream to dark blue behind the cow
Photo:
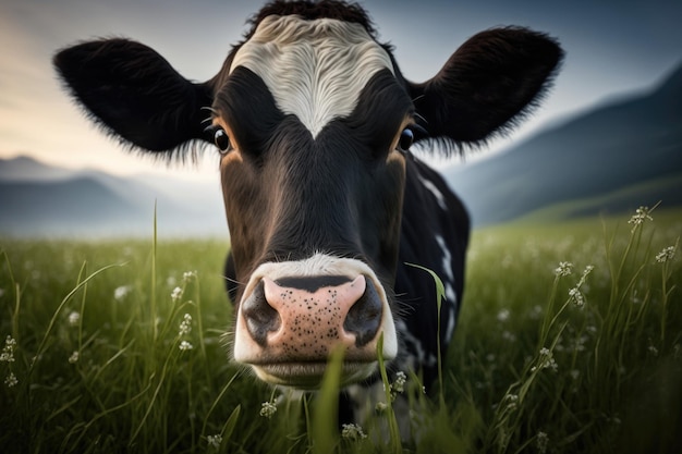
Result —
<instances>
[{"instance_id":1,"label":"cloudy sky fading from cream to dark blue behind the cow","mask_svg":"<svg viewBox=\"0 0 682 454\"><path fill-rule=\"evenodd\" d=\"M403 74L414 82L430 78L459 45L495 26L527 26L561 41L567 59L552 91L519 131L491 142L487 154L605 101L646 90L682 64L679 1L360 3L373 17L379 39L395 47ZM168 169L119 147L66 96L51 56L77 41L124 36L156 49L185 77L203 82L218 72L231 46L246 32L246 19L260 4L253 0L0 0L0 159L24 155L114 174L216 177L217 154L205 154L196 167Z\"/></svg>"}]
</instances>

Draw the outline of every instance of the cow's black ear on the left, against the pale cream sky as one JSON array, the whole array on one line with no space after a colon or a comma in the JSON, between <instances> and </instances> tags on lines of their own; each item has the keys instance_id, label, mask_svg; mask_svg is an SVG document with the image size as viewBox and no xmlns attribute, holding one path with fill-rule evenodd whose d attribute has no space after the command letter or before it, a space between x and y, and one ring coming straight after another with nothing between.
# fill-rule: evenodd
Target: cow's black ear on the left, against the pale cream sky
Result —
<instances>
[{"instance_id":1,"label":"cow's black ear on the left, against the pale cream sky","mask_svg":"<svg viewBox=\"0 0 682 454\"><path fill-rule=\"evenodd\" d=\"M185 79L149 47L127 39L83 42L58 52L53 63L94 120L130 145L168 151L204 138L209 86Z\"/></svg>"}]
</instances>

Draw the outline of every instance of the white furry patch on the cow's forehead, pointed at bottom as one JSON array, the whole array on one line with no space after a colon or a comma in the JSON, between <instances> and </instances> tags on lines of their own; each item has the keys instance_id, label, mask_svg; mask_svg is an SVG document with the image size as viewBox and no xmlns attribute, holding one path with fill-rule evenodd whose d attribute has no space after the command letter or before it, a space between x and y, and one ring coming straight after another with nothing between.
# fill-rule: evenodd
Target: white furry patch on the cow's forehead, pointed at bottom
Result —
<instances>
[{"instance_id":1,"label":"white furry patch on the cow's forehead, pointed at bottom","mask_svg":"<svg viewBox=\"0 0 682 454\"><path fill-rule=\"evenodd\" d=\"M388 52L362 25L295 15L263 20L235 53L230 72L238 66L257 74L277 107L296 115L313 137L353 112L372 76L393 72Z\"/></svg>"}]
</instances>

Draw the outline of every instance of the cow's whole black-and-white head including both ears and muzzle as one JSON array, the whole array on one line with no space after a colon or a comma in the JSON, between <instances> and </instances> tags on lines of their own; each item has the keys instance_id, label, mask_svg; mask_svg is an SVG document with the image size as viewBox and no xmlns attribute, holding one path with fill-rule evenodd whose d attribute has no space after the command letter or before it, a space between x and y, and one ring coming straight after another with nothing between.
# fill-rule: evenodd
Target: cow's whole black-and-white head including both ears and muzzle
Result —
<instances>
[{"instance_id":1,"label":"cow's whole black-and-white head including both ears and muzzle","mask_svg":"<svg viewBox=\"0 0 682 454\"><path fill-rule=\"evenodd\" d=\"M413 142L456 149L503 131L560 60L545 35L491 29L413 84L360 8L325 1L264 8L206 83L125 39L77 45L54 64L134 148L217 146L239 283L234 358L265 381L312 388L337 344L346 383L376 371L381 333L383 357L397 355L391 289Z\"/></svg>"}]
</instances>

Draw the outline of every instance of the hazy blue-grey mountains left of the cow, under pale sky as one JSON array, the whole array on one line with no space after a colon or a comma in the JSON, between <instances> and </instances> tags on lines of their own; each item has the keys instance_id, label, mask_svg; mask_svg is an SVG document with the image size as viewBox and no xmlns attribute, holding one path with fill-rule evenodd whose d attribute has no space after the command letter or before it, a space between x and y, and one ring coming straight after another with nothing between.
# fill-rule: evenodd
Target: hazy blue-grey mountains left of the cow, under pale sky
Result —
<instances>
[{"instance_id":1,"label":"hazy blue-grey mountains left of the cow, under pale sky","mask_svg":"<svg viewBox=\"0 0 682 454\"><path fill-rule=\"evenodd\" d=\"M32 158L0 160L0 235L171 236L228 234L216 181L73 171Z\"/></svg>"}]
</instances>

